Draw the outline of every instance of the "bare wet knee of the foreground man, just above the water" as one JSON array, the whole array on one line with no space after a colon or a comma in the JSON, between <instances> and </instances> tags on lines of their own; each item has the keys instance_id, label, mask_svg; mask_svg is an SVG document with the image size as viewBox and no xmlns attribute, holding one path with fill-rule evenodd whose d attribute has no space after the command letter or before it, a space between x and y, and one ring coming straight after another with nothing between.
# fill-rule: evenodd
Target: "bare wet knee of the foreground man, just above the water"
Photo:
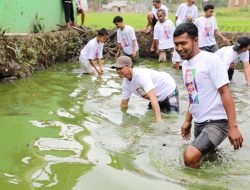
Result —
<instances>
[{"instance_id":1,"label":"bare wet knee of the foreground man, just above the water","mask_svg":"<svg viewBox=\"0 0 250 190\"><path fill-rule=\"evenodd\" d=\"M184 163L188 167L199 168L202 157L201 152L192 145L189 145L184 151Z\"/></svg>"}]
</instances>

